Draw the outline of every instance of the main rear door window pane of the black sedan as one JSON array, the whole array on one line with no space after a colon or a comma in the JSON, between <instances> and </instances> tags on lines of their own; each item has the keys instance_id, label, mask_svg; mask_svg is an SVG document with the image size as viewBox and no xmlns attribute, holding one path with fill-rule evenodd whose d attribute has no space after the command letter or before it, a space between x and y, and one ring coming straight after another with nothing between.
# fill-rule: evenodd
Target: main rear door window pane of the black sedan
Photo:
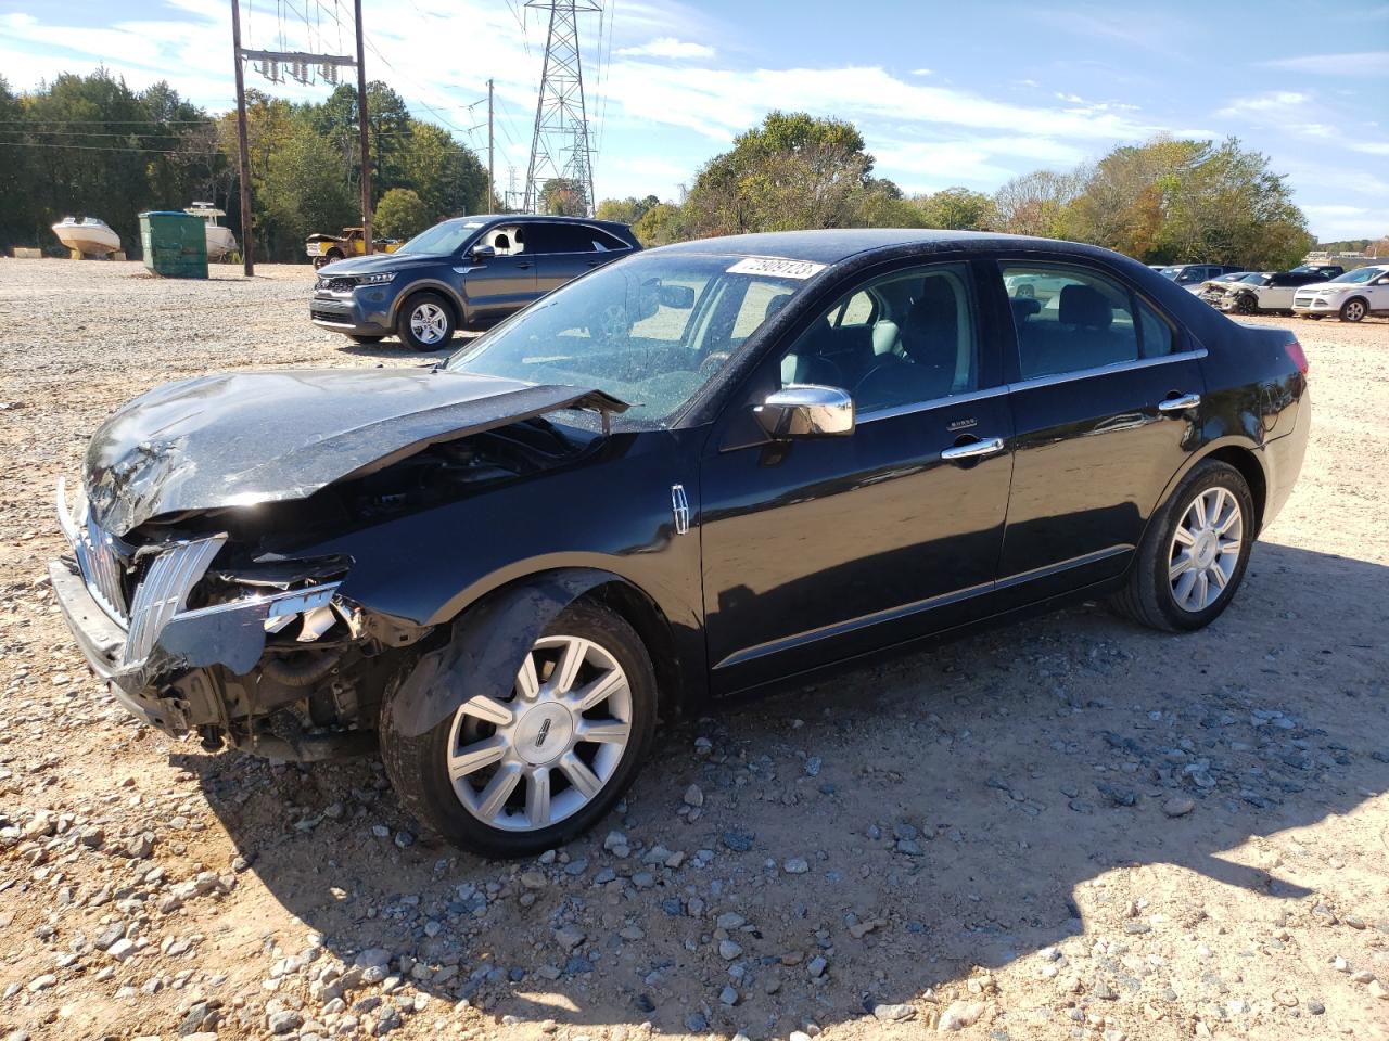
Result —
<instances>
[{"instance_id":1,"label":"main rear door window pane of the black sedan","mask_svg":"<svg viewBox=\"0 0 1389 1041\"><path fill-rule=\"evenodd\" d=\"M1022 379L1138 361L1131 297L1078 268L1004 261Z\"/></svg>"}]
</instances>

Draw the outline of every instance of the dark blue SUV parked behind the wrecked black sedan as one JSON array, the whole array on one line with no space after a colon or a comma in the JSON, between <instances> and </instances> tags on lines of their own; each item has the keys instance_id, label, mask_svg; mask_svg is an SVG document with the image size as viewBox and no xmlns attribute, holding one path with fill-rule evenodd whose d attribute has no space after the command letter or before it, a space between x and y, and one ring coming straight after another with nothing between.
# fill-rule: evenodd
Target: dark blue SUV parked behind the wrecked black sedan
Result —
<instances>
[{"instance_id":1,"label":"dark blue SUV parked behind the wrecked black sedan","mask_svg":"<svg viewBox=\"0 0 1389 1041\"><path fill-rule=\"evenodd\" d=\"M642 244L625 223L579 217L456 217L394 253L318 269L314 325L379 343L397 333L417 351L449 346L457 329L483 329L569 279L629 257Z\"/></svg>"}]
</instances>

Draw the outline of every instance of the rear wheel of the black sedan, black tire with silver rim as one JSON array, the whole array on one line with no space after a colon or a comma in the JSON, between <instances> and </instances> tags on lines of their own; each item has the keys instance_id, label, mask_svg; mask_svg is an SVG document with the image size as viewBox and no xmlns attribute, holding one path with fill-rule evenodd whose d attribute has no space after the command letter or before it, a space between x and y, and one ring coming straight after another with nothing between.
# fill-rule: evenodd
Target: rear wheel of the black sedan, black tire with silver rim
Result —
<instances>
[{"instance_id":1,"label":"rear wheel of the black sedan, black tire with silver rim","mask_svg":"<svg viewBox=\"0 0 1389 1041\"><path fill-rule=\"evenodd\" d=\"M1197 526L1199 518L1193 512L1197 500L1203 500L1207 514L1214 507L1215 527L1229 518L1231 505L1238 507L1238 519L1228 525L1224 534L1201 534L1188 545L1178 541L1179 527L1186 532L1183 539L1190 537L1192 529L1211 527ZM1197 464L1149 520L1129 568L1128 584L1111 598L1111 607L1139 625L1168 633L1208 626L1229 607L1245 577L1256 536L1254 516L1254 497L1238 469L1217 459ZM1229 537L1232 532L1238 533L1233 540ZM1188 566L1171 576L1174 565L1181 565L1183 557L1189 561ZM1204 568L1192 566L1207 561ZM1213 577L1217 568L1224 576L1222 583ZM1200 584L1203 579L1204 587ZM1208 590L1206 597L1200 595L1203 590Z\"/></svg>"}]
</instances>

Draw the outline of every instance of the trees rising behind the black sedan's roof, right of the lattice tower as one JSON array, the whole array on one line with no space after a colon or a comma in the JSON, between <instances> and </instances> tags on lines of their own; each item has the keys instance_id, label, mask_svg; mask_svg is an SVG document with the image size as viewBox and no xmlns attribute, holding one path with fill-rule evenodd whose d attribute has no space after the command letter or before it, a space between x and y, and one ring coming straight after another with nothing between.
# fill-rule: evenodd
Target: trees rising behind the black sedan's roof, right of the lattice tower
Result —
<instances>
[{"instance_id":1,"label":"trees rising behind the black sedan's roof, right of the lattice tower","mask_svg":"<svg viewBox=\"0 0 1389 1041\"><path fill-rule=\"evenodd\" d=\"M1314 244L1286 178L1224 142L1154 137L1097 162L907 196L874 175L858 130L839 119L771 112L708 160L679 201L607 198L597 212L647 246L800 228L942 228L1106 246L1147 264L1296 264Z\"/></svg>"}]
</instances>

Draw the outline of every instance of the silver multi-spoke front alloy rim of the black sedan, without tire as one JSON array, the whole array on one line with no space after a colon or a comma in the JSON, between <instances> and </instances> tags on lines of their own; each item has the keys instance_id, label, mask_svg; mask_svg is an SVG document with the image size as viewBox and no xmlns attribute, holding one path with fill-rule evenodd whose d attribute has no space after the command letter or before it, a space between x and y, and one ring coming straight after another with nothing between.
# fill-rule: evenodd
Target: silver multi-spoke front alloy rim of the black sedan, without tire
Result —
<instances>
[{"instance_id":1,"label":"silver multi-spoke front alloy rim of the black sedan, without tire","mask_svg":"<svg viewBox=\"0 0 1389 1041\"><path fill-rule=\"evenodd\" d=\"M578 813L617 772L632 736L632 691L617 658L578 636L535 643L507 700L454 713L447 768L478 820L535 831Z\"/></svg>"}]
</instances>

